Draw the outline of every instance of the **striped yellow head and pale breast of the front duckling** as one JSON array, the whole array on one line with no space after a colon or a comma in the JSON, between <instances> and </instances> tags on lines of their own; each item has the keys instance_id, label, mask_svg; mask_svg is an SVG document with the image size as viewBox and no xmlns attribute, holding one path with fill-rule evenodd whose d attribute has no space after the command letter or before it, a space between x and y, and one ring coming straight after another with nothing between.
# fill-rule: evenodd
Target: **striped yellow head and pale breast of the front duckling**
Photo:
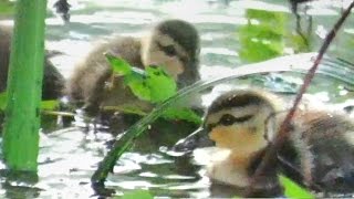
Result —
<instances>
[{"instance_id":1,"label":"striped yellow head and pale breast of the front duckling","mask_svg":"<svg viewBox=\"0 0 354 199\"><path fill-rule=\"evenodd\" d=\"M207 175L214 181L246 188L250 186L256 168L274 137L273 114L280 111L280 101L271 94L259 91L231 91L219 97L209 106L204 127L209 138L215 142L218 154L215 154L207 166ZM257 190L281 192L277 171L271 168L264 178L256 184Z\"/></svg>"}]
</instances>

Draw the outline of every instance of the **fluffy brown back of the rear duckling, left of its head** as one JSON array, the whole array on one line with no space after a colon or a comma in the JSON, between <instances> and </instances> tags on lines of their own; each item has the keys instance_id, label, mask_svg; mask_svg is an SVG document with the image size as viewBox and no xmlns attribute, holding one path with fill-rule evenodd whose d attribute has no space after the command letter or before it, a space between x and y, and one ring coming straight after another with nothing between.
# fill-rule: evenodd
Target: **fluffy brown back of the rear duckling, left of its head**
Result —
<instances>
[{"instance_id":1,"label":"fluffy brown back of the rear duckling, left of its head","mask_svg":"<svg viewBox=\"0 0 354 199\"><path fill-rule=\"evenodd\" d=\"M140 42L138 39L116 38L101 43L87 54L85 60L76 65L67 82L66 93L73 102L85 103L93 107L100 106L105 91L105 83L113 73L104 56L105 53L122 57L134 66L144 67L140 60ZM124 96L123 93L122 95Z\"/></svg>"}]
</instances>

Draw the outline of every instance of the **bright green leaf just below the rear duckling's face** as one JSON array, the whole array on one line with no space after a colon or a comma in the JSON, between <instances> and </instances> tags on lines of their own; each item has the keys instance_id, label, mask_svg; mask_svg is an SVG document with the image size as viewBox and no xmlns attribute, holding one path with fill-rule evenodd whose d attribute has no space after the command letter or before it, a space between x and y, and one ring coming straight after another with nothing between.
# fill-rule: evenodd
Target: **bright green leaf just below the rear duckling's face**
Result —
<instances>
[{"instance_id":1,"label":"bright green leaf just below the rear duckling's face","mask_svg":"<svg viewBox=\"0 0 354 199\"><path fill-rule=\"evenodd\" d=\"M175 80L163 69L148 66L146 73L146 85L150 91L150 102L163 102L177 93Z\"/></svg>"}]
</instances>

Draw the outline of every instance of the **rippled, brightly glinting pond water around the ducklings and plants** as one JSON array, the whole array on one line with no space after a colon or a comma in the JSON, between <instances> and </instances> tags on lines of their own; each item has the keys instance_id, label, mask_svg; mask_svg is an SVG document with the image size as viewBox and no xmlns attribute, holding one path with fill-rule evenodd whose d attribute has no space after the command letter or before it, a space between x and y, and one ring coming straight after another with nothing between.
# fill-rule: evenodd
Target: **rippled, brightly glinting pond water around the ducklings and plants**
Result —
<instances>
[{"instance_id":1,"label":"rippled, brightly glinting pond water around the ducklings and plants","mask_svg":"<svg viewBox=\"0 0 354 199\"><path fill-rule=\"evenodd\" d=\"M313 15L310 51L316 51L323 35L330 30L348 1L321 1L313 3L308 13ZM52 3L52 2L51 2ZM204 80L222 75L232 67L247 63L239 55L240 45L237 31L247 24L247 9L284 12L287 29L294 31L294 18L288 1L227 1L227 0L79 0L72 3L71 22L51 17L46 20L46 49L61 52L52 62L70 76L74 64L94 46L94 41L119 35L142 35L162 19L179 18L196 25L201 36L201 66ZM303 19L303 23L308 23ZM354 62L354 19L350 19L331 46L330 54ZM1 21L11 23L11 20ZM287 46L285 54L293 49ZM351 65L347 65L351 67ZM350 69L348 69L350 70ZM285 81L284 81L285 80ZM279 83L280 84L275 84ZM239 85L261 85L278 92L292 93L301 83L299 74L272 74L257 78L238 81ZM235 85L235 83L233 83ZM353 93L341 80L320 76L311 86L311 98L340 107L352 105ZM220 91L228 90L221 87ZM351 104L352 103L352 104ZM335 106L340 108L339 106ZM54 124L55 126L55 124ZM44 128L41 134L39 180L6 177L1 172L0 198L88 198L94 191L90 178L97 163L107 153L106 142L113 138L104 127L94 133L80 122L55 132ZM175 128L170 128L175 129ZM192 129L192 128L189 128ZM149 189L158 197L231 197L226 190L210 188L210 181L200 166L189 157L173 156L168 153L179 138L187 134L169 130L162 135L144 135L132 150L116 163L114 174L106 186L121 196L133 189ZM168 140L166 142L166 138ZM4 165L0 163L0 168Z\"/></svg>"}]
</instances>

